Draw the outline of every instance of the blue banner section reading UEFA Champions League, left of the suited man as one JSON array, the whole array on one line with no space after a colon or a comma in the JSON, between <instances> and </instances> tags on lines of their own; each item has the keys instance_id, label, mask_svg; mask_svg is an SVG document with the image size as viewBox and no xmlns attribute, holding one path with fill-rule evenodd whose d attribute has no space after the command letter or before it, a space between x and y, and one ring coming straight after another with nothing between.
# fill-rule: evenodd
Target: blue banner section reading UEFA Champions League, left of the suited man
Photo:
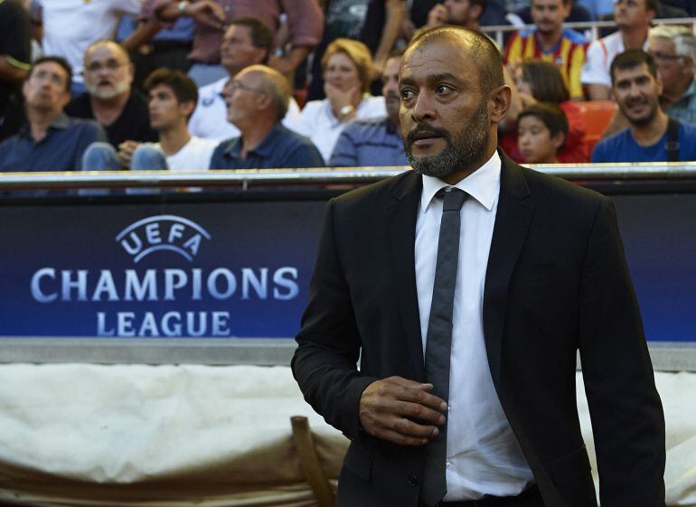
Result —
<instances>
[{"instance_id":1,"label":"blue banner section reading UEFA Champions League, left of the suited man","mask_svg":"<svg viewBox=\"0 0 696 507\"><path fill-rule=\"evenodd\" d=\"M324 202L5 207L0 334L292 336Z\"/></svg>"}]
</instances>

